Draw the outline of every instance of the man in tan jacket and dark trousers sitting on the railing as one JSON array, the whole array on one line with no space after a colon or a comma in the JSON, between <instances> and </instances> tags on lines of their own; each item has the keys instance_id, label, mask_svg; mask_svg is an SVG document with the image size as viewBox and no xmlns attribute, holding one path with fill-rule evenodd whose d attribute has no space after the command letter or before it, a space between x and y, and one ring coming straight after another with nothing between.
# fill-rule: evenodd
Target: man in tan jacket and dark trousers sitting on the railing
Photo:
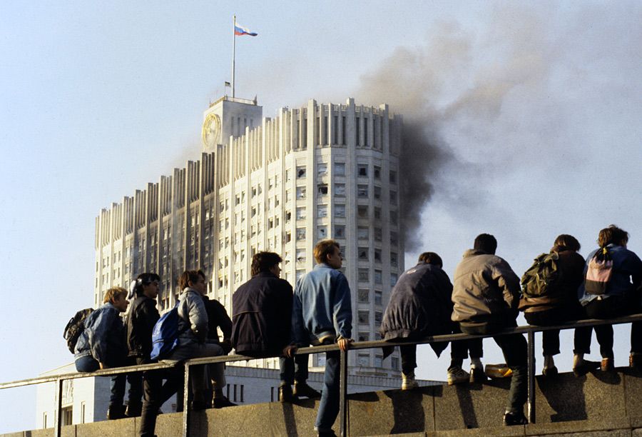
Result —
<instances>
[{"instance_id":1,"label":"man in tan jacket and dark trousers sitting on the railing","mask_svg":"<svg viewBox=\"0 0 642 437\"><path fill-rule=\"evenodd\" d=\"M499 333L516 326L519 278L509 263L495 256L496 248L495 237L482 233L475 238L474 248L464 252L455 269L452 320L459 322L464 333ZM521 334L498 335L493 339L513 372L504 425L524 424L527 422L524 416L528 371L526 339Z\"/></svg>"}]
</instances>

